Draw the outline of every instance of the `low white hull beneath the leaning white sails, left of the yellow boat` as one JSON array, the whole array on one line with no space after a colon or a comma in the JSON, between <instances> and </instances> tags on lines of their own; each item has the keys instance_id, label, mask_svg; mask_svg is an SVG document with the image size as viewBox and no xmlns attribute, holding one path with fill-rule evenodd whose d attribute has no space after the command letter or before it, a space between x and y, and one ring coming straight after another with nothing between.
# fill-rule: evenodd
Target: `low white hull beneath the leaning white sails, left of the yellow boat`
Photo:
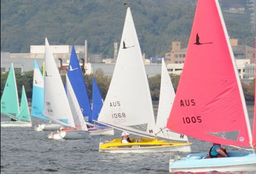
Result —
<instances>
[{"instance_id":1,"label":"low white hull beneath the leaning white sails, left of the yellow boat","mask_svg":"<svg viewBox=\"0 0 256 174\"><path fill-rule=\"evenodd\" d=\"M48 138L55 140L80 140L90 138L90 134L84 130L58 130L58 132L51 132Z\"/></svg>"}]
</instances>

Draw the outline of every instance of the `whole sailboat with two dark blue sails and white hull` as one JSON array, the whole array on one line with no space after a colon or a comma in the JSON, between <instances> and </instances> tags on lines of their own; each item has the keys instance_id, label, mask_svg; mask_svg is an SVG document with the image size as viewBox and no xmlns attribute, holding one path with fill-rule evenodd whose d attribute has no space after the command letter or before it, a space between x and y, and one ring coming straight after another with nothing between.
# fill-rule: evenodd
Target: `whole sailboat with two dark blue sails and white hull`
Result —
<instances>
[{"instance_id":1,"label":"whole sailboat with two dark blue sails and white hull","mask_svg":"<svg viewBox=\"0 0 256 174\"><path fill-rule=\"evenodd\" d=\"M70 61L67 71L67 76L70 80L72 88L76 94L80 110L82 111L85 120L88 120L86 124L88 125L88 130L90 135L104 135L113 136L114 128L105 125L97 125L92 120L97 120L100 113L101 107L103 105L103 100L98 89L96 80L93 78L93 111L90 105L90 100L88 97L88 91L86 88L86 83L84 76L77 58L75 47L72 47Z\"/></svg>"}]
</instances>

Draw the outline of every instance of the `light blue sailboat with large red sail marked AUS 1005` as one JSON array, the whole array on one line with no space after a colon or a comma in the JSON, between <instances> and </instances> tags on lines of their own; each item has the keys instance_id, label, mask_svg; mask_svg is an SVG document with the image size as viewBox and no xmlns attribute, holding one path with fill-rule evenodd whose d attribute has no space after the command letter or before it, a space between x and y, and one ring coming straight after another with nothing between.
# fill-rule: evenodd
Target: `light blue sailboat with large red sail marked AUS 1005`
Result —
<instances>
[{"instance_id":1,"label":"light blue sailboat with large red sail marked AUS 1005","mask_svg":"<svg viewBox=\"0 0 256 174\"><path fill-rule=\"evenodd\" d=\"M252 140L242 85L217 0L197 2L167 128L203 141L248 150L230 151L226 158L209 158L209 153L199 153L179 161L170 159L170 172L256 170L252 145L255 135Z\"/></svg>"}]
</instances>

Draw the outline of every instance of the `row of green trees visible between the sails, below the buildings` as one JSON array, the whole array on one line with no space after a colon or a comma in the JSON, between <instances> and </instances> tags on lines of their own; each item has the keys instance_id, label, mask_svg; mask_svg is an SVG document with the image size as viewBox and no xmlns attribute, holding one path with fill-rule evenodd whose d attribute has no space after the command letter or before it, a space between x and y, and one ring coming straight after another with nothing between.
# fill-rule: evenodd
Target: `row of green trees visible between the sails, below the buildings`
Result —
<instances>
[{"instance_id":1,"label":"row of green trees visible between the sails, below the buildings","mask_svg":"<svg viewBox=\"0 0 256 174\"><path fill-rule=\"evenodd\" d=\"M6 82L7 76L8 76L8 73L1 73L1 97L5 88L5 82ZM16 84L17 84L19 97L21 97L22 85L24 85L27 97L32 98L33 71L26 72L23 75L21 73L15 72L15 76L16 76ZM109 84L111 82L111 77L104 75L101 69L98 69L94 75L92 74L84 75L84 79L86 82L86 87L87 87L87 91L90 99L92 99L93 77L97 81L102 98L105 99ZM170 74L170 77L173 83L174 90L176 92L180 76L175 74ZM62 75L61 78L62 78L63 84L65 84L66 83L65 75ZM161 75L158 74L156 76L149 77L148 80L149 80L152 100L159 100ZM242 82L242 86L243 86L245 100L254 101L255 78L250 83Z\"/></svg>"}]
</instances>

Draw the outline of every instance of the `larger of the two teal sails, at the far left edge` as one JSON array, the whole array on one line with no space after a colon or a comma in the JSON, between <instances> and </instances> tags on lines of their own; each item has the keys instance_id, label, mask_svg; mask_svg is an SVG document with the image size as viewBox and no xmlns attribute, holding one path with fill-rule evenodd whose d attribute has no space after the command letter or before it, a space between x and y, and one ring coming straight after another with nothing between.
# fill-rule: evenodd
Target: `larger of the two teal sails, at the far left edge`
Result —
<instances>
[{"instance_id":1,"label":"larger of the two teal sails, at the far left edge","mask_svg":"<svg viewBox=\"0 0 256 174\"><path fill-rule=\"evenodd\" d=\"M1 98L1 113L11 118L19 119L19 98L13 64L11 64L11 68L5 83L5 89Z\"/></svg>"}]
</instances>

